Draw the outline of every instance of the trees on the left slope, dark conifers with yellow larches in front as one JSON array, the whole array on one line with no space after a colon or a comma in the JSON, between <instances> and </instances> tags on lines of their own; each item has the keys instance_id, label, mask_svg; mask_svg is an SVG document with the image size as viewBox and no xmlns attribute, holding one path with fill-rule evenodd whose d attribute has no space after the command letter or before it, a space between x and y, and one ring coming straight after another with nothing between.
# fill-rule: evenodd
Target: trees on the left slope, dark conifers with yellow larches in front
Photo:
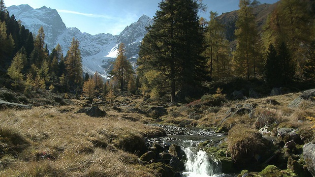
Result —
<instances>
[{"instance_id":1,"label":"trees on the left slope, dark conifers with yellow larches in front","mask_svg":"<svg viewBox=\"0 0 315 177\"><path fill-rule=\"evenodd\" d=\"M43 27L33 37L0 1L1 86L30 91L56 89L65 92L82 85L79 42L72 39L66 56L58 44L51 53L45 44Z\"/></svg>"}]
</instances>

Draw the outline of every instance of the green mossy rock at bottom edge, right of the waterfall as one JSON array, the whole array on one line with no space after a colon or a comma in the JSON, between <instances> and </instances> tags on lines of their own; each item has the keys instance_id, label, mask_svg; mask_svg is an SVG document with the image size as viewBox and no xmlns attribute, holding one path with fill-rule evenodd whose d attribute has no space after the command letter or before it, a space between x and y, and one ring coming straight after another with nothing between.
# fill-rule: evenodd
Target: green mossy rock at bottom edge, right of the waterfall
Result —
<instances>
[{"instance_id":1,"label":"green mossy rock at bottom edge, right of the waterfall","mask_svg":"<svg viewBox=\"0 0 315 177\"><path fill-rule=\"evenodd\" d=\"M296 174L281 170L274 165L268 165L264 170L259 172L258 175L262 177L298 177Z\"/></svg>"}]
</instances>

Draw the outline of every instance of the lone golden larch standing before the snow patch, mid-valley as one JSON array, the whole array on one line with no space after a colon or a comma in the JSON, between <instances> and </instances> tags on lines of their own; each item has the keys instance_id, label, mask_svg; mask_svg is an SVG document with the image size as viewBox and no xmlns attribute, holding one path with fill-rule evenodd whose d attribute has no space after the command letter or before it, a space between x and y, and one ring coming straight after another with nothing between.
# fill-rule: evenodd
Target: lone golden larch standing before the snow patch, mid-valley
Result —
<instances>
[{"instance_id":1,"label":"lone golden larch standing before the snow patch, mid-valley","mask_svg":"<svg viewBox=\"0 0 315 177\"><path fill-rule=\"evenodd\" d=\"M110 72L114 82L119 85L121 91L127 87L128 81L134 73L130 62L125 56L125 52L125 45L121 43L118 48L117 58L113 62L113 70Z\"/></svg>"}]
</instances>

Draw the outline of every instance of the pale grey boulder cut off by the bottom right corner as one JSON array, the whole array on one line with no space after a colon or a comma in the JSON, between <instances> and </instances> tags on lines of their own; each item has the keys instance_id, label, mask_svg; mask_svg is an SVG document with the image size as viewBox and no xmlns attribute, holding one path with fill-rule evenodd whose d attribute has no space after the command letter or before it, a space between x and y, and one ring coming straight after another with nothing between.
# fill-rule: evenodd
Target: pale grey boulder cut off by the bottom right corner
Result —
<instances>
[{"instance_id":1,"label":"pale grey boulder cut off by the bottom right corner","mask_svg":"<svg viewBox=\"0 0 315 177\"><path fill-rule=\"evenodd\" d=\"M303 146L303 157L309 172L315 177L315 144L308 143Z\"/></svg>"}]
</instances>

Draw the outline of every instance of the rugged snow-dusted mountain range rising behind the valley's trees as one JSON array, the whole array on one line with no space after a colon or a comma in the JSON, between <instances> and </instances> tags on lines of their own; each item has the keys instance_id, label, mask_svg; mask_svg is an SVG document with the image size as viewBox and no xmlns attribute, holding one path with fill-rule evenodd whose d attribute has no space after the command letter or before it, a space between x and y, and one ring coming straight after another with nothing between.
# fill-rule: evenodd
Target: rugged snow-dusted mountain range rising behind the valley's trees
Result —
<instances>
[{"instance_id":1,"label":"rugged snow-dusted mountain range rising behind the valley's trees","mask_svg":"<svg viewBox=\"0 0 315 177\"><path fill-rule=\"evenodd\" d=\"M116 58L120 43L125 44L126 57L134 64L138 57L139 45L147 33L145 27L153 23L151 18L143 15L119 35L104 33L91 35L76 28L66 28L57 10L45 6L33 9L29 5L13 5L7 10L16 20L20 20L33 36L36 36L38 29L43 26L45 43L49 51L59 43L65 55L72 38L77 39L80 42L84 72L94 74L97 71L105 78L108 76L111 61Z\"/></svg>"}]
</instances>

